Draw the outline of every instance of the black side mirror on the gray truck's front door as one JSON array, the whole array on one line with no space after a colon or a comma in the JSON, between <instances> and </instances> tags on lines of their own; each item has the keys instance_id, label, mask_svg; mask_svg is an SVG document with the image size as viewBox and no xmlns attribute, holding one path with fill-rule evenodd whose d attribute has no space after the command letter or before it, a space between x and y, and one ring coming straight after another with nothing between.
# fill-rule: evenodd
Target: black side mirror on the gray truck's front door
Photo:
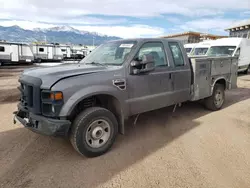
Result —
<instances>
[{"instance_id":1,"label":"black side mirror on the gray truck's front door","mask_svg":"<svg viewBox=\"0 0 250 188\"><path fill-rule=\"evenodd\" d=\"M131 74L138 75L153 71L155 69L155 62L152 55L143 55L142 60L133 60L130 63Z\"/></svg>"}]
</instances>

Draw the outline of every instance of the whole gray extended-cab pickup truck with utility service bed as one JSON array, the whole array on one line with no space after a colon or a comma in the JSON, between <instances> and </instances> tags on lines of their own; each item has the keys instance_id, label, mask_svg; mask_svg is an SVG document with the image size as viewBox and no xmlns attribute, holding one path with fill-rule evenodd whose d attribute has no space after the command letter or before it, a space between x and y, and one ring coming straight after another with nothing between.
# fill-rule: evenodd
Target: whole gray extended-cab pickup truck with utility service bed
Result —
<instances>
[{"instance_id":1,"label":"whole gray extended-cab pickup truck with utility service bed","mask_svg":"<svg viewBox=\"0 0 250 188\"><path fill-rule=\"evenodd\" d=\"M176 40L107 42L79 63L25 70L14 123L99 156L130 116L198 100L219 110L225 90L237 87L237 64L235 57L189 59Z\"/></svg>"}]
</instances>

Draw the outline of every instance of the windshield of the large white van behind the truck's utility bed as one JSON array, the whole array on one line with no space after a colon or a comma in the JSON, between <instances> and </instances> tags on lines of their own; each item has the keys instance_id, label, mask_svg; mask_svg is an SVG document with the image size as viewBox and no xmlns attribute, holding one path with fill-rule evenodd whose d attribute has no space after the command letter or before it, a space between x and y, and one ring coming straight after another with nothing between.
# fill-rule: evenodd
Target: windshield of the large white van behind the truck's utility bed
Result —
<instances>
[{"instance_id":1,"label":"windshield of the large white van behind the truck's utility bed","mask_svg":"<svg viewBox=\"0 0 250 188\"><path fill-rule=\"evenodd\" d=\"M209 51L209 56L232 56L236 46L212 46Z\"/></svg>"}]
</instances>

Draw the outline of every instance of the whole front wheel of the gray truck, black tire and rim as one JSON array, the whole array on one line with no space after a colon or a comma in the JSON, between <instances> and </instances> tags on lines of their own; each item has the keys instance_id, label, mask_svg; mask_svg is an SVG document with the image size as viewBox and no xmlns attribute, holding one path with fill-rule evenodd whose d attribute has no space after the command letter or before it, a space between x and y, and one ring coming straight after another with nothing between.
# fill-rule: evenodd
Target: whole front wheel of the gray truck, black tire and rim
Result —
<instances>
[{"instance_id":1,"label":"whole front wheel of the gray truck, black tire and rim","mask_svg":"<svg viewBox=\"0 0 250 188\"><path fill-rule=\"evenodd\" d=\"M112 147L117 133L118 122L114 114L105 108L91 107L75 118L70 142L81 155L97 157Z\"/></svg>"}]
</instances>

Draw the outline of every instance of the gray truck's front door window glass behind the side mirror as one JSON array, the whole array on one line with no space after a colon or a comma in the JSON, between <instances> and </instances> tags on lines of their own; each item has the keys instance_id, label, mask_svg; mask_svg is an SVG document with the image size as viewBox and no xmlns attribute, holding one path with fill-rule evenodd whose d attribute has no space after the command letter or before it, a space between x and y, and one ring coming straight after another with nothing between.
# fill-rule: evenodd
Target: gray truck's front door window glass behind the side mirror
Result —
<instances>
[{"instance_id":1,"label":"gray truck's front door window glass behind the side mirror","mask_svg":"<svg viewBox=\"0 0 250 188\"><path fill-rule=\"evenodd\" d=\"M141 60L143 55L150 54L153 56L155 66L167 66L164 46L161 42L148 42L142 45L136 59Z\"/></svg>"}]
</instances>

